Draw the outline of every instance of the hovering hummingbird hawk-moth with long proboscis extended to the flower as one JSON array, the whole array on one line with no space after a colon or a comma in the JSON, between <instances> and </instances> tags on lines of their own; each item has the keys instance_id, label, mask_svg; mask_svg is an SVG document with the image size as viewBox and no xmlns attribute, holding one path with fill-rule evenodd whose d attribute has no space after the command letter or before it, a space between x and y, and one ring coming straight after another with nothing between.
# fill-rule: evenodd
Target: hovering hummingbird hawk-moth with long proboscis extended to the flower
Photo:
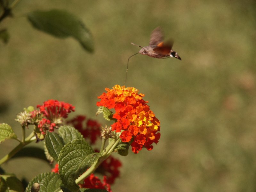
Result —
<instances>
[{"instance_id":1,"label":"hovering hummingbird hawk-moth with long proboscis extended to the flower","mask_svg":"<svg viewBox=\"0 0 256 192\"><path fill-rule=\"evenodd\" d=\"M160 27L155 28L151 33L148 46L142 47L140 45L131 43L131 44L136 45L141 48L139 52L133 54L132 56L140 53L142 55L148 55L149 57L154 57L154 58L158 58L158 59L166 59L169 57L175 57L175 58L181 60L178 53L172 50L173 41L163 42L163 39L164 39L164 35L163 35L161 28ZM129 59L132 56L130 56L127 61L125 82L127 79Z\"/></svg>"}]
</instances>

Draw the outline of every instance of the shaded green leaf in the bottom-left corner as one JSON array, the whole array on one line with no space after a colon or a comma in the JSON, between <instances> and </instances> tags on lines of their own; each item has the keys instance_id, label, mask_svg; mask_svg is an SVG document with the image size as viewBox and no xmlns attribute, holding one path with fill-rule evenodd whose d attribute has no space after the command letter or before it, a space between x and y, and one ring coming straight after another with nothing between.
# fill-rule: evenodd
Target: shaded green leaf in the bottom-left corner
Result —
<instances>
[{"instance_id":1,"label":"shaded green leaf in the bottom-left corner","mask_svg":"<svg viewBox=\"0 0 256 192\"><path fill-rule=\"evenodd\" d=\"M3 186L2 186L2 184L0 185L0 191L3 191L2 187L4 188L5 186L7 186L8 191L13 191L13 192L14 191L17 191L17 192L24 191L21 181L14 174L1 175L0 179L1 179L0 183L2 183L2 181L5 183L5 184L3 184Z\"/></svg>"}]
</instances>

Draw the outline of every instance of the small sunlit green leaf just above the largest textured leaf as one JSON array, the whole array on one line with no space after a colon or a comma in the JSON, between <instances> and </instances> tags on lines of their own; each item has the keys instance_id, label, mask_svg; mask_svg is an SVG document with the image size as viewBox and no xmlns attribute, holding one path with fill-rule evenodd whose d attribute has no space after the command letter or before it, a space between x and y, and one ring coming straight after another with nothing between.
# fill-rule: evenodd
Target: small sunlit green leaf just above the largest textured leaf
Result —
<instances>
[{"instance_id":1,"label":"small sunlit green leaf just above the largest textured leaf","mask_svg":"<svg viewBox=\"0 0 256 192\"><path fill-rule=\"evenodd\" d=\"M84 136L77 129L67 125L61 126L59 128L59 134L63 138L65 144L73 140L84 138Z\"/></svg>"}]
</instances>

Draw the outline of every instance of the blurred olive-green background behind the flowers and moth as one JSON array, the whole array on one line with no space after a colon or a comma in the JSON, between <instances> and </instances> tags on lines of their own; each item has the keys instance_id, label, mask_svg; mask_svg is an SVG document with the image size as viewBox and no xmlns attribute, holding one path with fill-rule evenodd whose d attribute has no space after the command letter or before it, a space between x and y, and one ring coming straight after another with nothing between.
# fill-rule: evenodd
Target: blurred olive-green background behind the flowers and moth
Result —
<instances>
[{"instance_id":1,"label":"blurred olive-green background behind the flowers and moth","mask_svg":"<svg viewBox=\"0 0 256 192\"><path fill-rule=\"evenodd\" d=\"M25 17L52 8L84 21L93 54L72 38L34 29ZM0 42L0 122L19 136L16 114L48 99L76 106L70 117L85 114L105 124L95 117L97 96L123 85L127 59L140 49L130 42L148 45L161 26L182 61L138 54L126 83L145 94L161 122L161 138L152 151L116 155L123 166L112 190L256 191L255 1L22 0L13 14L0 24L11 36L8 44ZM2 143L1 157L17 144ZM28 180L50 171L27 158L3 168Z\"/></svg>"}]
</instances>

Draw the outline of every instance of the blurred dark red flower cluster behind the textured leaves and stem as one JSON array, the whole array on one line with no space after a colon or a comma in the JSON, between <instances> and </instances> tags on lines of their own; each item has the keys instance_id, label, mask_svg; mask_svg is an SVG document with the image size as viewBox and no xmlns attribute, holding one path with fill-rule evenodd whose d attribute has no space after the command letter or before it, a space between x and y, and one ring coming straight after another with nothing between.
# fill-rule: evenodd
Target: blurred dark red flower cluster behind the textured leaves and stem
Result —
<instances>
[{"instance_id":1,"label":"blurred dark red flower cluster behind the textured leaves and stem","mask_svg":"<svg viewBox=\"0 0 256 192\"><path fill-rule=\"evenodd\" d=\"M90 143L94 144L100 138L100 124L92 119L88 119L84 125L86 116L76 116L67 123L71 123L83 136L89 138Z\"/></svg>"}]
</instances>

